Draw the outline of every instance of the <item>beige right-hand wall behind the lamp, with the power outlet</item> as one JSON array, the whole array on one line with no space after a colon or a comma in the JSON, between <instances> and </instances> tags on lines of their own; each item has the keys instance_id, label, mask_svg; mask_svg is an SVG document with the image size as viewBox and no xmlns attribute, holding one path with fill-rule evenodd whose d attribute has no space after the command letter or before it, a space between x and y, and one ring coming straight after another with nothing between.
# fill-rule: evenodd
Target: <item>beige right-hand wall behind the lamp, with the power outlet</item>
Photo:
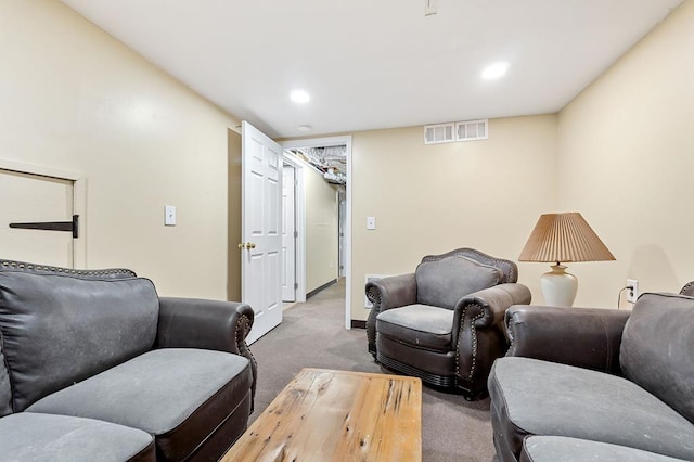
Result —
<instances>
[{"instance_id":1,"label":"beige right-hand wall behind the lamp, with the power outlet","mask_svg":"<svg viewBox=\"0 0 694 462\"><path fill-rule=\"evenodd\" d=\"M581 211L617 258L569 265L576 305L614 308L627 278L641 292L676 292L693 280L694 1L558 120L558 205Z\"/></svg>"}]
</instances>

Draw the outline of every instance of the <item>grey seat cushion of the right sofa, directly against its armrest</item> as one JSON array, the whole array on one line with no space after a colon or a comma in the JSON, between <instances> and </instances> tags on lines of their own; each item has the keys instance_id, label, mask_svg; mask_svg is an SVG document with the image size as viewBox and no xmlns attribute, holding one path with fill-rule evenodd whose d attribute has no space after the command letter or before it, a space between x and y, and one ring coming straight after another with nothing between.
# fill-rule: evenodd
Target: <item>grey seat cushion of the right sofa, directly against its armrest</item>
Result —
<instances>
[{"instance_id":1,"label":"grey seat cushion of the right sofa, directly against its armrest","mask_svg":"<svg viewBox=\"0 0 694 462\"><path fill-rule=\"evenodd\" d=\"M527 435L568 436L694 460L694 424L626 378L523 357L489 376L494 438L516 457Z\"/></svg>"}]
</instances>

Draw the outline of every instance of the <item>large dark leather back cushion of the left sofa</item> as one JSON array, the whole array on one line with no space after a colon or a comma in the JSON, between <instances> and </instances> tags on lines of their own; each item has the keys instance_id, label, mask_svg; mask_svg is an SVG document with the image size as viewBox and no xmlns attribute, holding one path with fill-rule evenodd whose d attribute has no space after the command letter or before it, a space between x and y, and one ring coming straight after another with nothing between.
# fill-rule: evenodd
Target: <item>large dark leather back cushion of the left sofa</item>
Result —
<instances>
[{"instance_id":1,"label":"large dark leather back cushion of the left sofa","mask_svg":"<svg viewBox=\"0 0 694 462\"><path fill-rule=\"evenodd\" d=\"M22 411L151 349L158 309L146 279L0 271L0 330L12 409Z\"/></svg>"}]
</instances>

